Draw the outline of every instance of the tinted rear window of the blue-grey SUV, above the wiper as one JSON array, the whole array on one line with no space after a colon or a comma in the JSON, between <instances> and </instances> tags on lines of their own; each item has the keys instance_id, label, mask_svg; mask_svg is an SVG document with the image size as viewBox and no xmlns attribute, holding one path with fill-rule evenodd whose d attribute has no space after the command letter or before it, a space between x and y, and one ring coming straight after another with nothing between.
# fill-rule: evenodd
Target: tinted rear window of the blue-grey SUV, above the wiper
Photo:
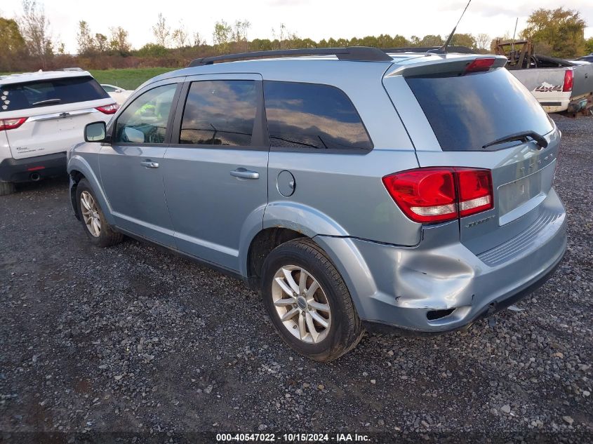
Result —
<instances>
[{"instance_id":1,"label":"tinted rear window of the blue-grey SUV, above the wiper","mask_svg":"<svg viewBox=\"0 0 593 444\"><path fill-rule=\"evenodd\" d=\"M484 145L515 133L544 135L552 130L535 97L505 68L406 81L444 151L481 151ZM504 147L508 144L490 149Z\"/></svg>"}]
</instances>

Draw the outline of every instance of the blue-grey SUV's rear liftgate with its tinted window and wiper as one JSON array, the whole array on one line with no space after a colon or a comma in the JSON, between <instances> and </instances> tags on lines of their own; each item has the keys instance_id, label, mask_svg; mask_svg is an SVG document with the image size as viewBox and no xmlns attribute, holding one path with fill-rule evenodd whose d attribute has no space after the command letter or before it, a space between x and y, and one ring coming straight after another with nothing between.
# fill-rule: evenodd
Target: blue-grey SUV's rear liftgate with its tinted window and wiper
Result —
<instances>
[{"instance_id":1,"label":"blue-grey SUV's rear liftgate with its tinted window and wiper","mask_svg":"<svg viewBox=\"0 0 593 444\"><path fill-rule=\"evenodd\" d=\"M504 59L494 60L467 72L471 58L441 58L384 79L421 167L491 170L494 208L460 219L460 239L476 255L551 217L540 204L553 192L560 141L537 100L502 67Z\"/></svg>"}]
</instances>

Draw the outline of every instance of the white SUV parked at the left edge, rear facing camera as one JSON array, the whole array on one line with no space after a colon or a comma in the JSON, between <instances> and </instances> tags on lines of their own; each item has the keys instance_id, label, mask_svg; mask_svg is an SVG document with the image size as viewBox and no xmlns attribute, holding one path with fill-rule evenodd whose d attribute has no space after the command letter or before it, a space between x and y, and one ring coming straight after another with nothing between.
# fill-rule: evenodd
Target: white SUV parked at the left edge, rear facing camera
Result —
<instances>
[{"instance_id":1,"label":"white SUV parked at the left edge, rear facing camera","mask_svg":"<svg viewBox=\"0 0 593 444\"><path fill-rule=\"evenodd\" d=\"M118 108L81 69L0 76L0 196L15 182L65 174L86 123L107 122Z\"/></svg>"}]
</instances>

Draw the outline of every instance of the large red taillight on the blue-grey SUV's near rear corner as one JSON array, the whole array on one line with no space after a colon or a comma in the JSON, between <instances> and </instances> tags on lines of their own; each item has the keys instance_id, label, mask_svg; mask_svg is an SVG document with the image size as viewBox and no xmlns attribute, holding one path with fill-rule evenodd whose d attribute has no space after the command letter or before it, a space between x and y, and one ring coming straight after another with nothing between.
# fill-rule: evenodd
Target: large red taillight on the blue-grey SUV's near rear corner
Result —
<instances>
[{"instance_id":1,"label":"large red taillight on the blue-grey SUV's near rear corner","mask_svg":"<svg viewBox=\"0 0 593 444\"><path fill-rule=\"evenodd\" d=\"M414 222L444 222L493 208L490 170L418 168L382 180L395 203Z\"/></svg>"}]
</instances>

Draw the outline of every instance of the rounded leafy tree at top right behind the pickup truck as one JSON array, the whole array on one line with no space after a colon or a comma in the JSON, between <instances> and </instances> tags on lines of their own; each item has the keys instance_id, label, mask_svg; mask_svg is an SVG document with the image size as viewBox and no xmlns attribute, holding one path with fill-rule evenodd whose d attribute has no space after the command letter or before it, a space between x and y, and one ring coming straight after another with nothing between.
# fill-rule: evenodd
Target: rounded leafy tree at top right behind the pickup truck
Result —
<instances>
[{"instance_id":1,"label":"rounded leafy tree at top right behind the pickup truck","mask_svg":"<svg viewBox=\"0 0 593 444\"><path fill-rule=\"evenodd\" d=\"M531 13L521 36L531 39L539 53L573 58L585 52L586 26L578 11L540 8Z\"/></svg>"}]
</instances>

